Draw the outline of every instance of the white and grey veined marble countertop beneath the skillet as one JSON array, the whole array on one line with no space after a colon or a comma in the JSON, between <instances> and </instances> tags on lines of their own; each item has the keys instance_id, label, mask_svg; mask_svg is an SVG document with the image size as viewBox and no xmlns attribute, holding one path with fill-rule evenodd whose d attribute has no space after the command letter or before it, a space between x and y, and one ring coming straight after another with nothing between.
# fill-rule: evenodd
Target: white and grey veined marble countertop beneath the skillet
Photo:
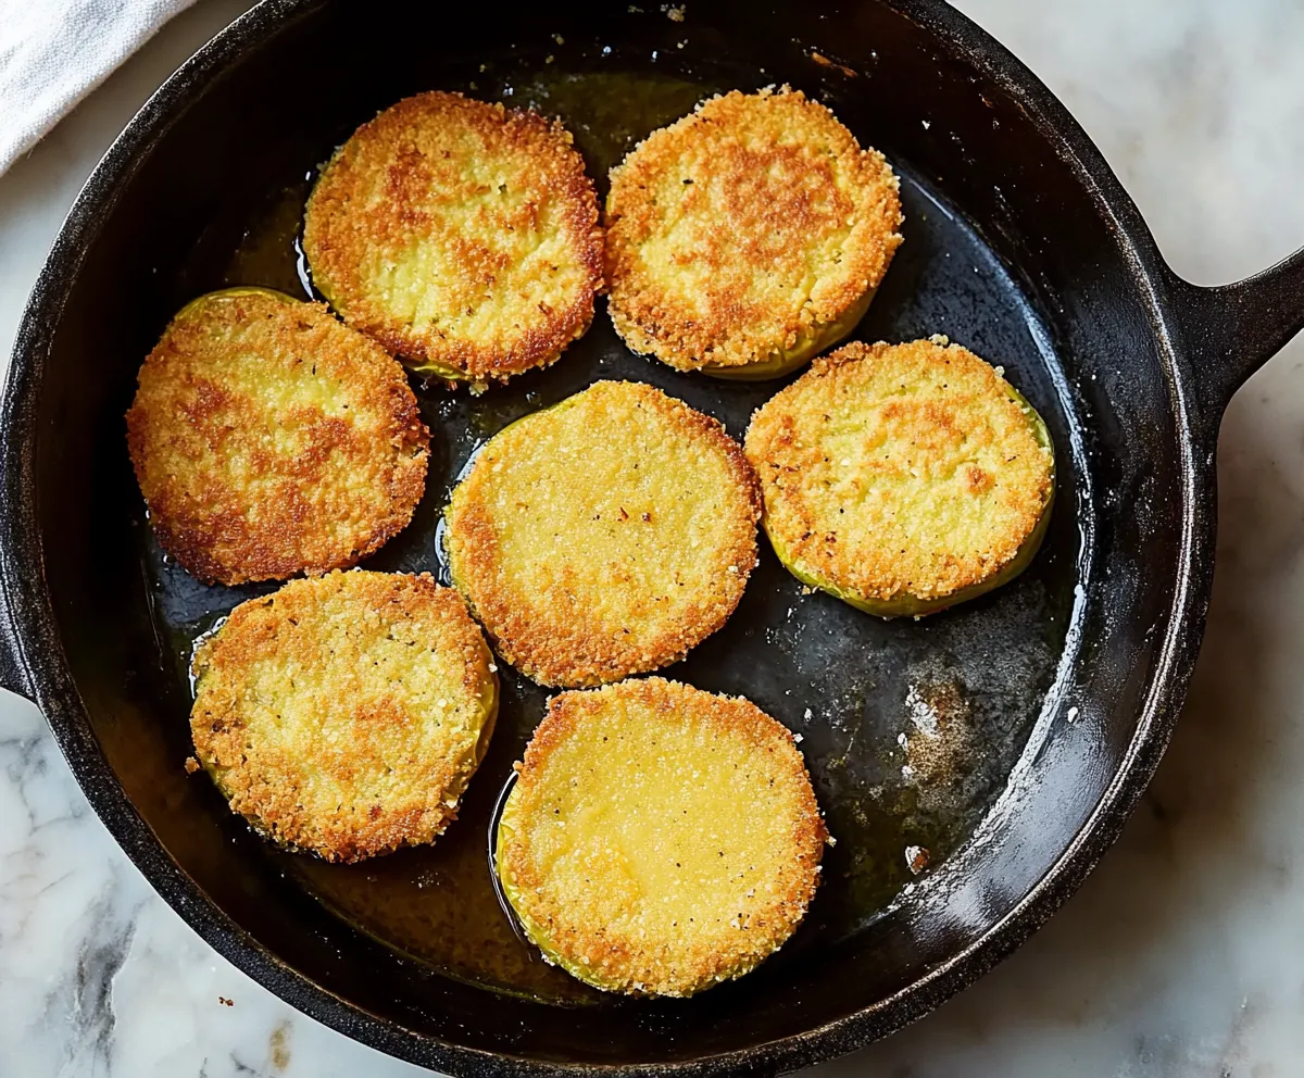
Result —
<instances>
[{"instance_id":1,"label":"white and grey veined marble countertop beneath the skillet","mask_svg":"<svg viewBox=\"0 0 1304 1078\"><path fill-rule=\"evenodd\" d=\"M201 0L0 177L0 356L100 153L244 7ZM1297 0L960 7L1067 102L1180 272L1230 280L1304 244ZM1301 366L1297 339L1223 424L1209 632L1118 847L994 974L827 1078L1304 1074ZM0 701L0 1074L417 1073L219 958L110 839L34 709Z\"/></svg>"}]
</instances>

